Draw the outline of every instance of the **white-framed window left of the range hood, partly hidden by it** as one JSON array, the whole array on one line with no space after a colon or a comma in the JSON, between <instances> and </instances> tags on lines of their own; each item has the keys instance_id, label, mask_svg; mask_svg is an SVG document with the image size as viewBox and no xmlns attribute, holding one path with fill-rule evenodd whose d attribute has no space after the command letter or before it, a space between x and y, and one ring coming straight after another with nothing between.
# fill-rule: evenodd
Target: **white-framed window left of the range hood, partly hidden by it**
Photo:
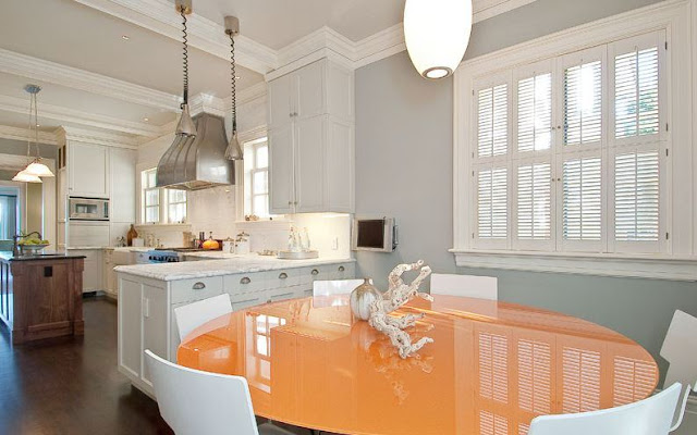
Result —
<instances>
[{"instance_id":1,"label":"white-framed window left of the range hood, partly hidden by it","mask_svg":"<svg viewBox=\"0 0 697 435\"><path fill-rule=\"evenodd\" d=\"M156 177L157 169L140 173L142 222L146 224L186 222L186 190L158 188Z\"/></svg>"}]
</instances>

